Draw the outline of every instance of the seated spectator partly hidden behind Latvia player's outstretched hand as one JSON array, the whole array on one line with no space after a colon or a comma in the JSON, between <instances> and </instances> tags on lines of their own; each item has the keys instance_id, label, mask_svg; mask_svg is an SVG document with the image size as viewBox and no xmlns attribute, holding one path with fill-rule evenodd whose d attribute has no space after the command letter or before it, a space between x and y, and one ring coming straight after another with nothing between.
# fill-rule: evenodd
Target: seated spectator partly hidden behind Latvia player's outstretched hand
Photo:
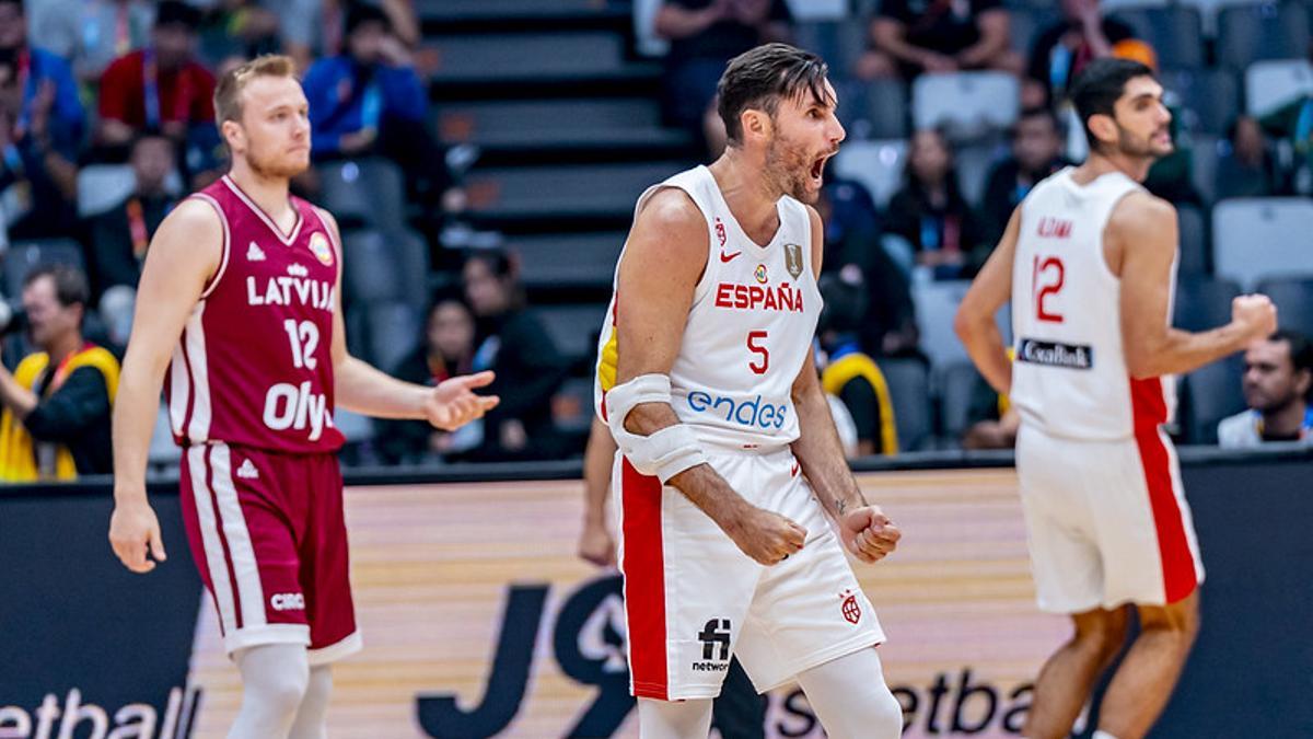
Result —
<instances>
[{"instance_id":1,"label":"seated spectator partly hidden behind Latvia player's outstretched hand","mask_svg":"<svg viewBox=\"0 0 1313 739\"><path fill-rule=\"evenodd\" d=\"M469 375L474 367L474 314L460 296L439 297L428 312L424 338L393 375L399 380L436 388L442 380ZM378 419L376 446L387 464L437 462L466 452L483 441L483 419L456 431L435 429L427 421Z\"/></svg>"}]
</instances>

